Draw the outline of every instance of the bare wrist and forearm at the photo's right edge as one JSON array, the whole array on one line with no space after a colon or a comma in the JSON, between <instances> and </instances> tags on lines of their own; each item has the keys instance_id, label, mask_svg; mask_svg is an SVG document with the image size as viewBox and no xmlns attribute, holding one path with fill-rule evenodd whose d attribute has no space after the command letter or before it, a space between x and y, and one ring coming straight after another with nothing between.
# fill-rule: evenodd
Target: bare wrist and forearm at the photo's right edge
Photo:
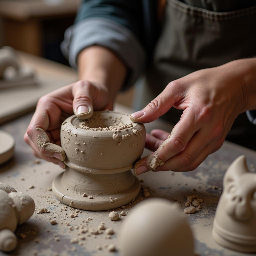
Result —
<instances>
[{"instance_id":1,"label":"bare wrist and forearm at the photo's right edge","mask_svg":"<svg viewBox=\"0 0 256 256\"><path fill-rule=\"evenodd\" d=\"M234 60L227 63L242 85L244 106L242 111L256 109L256 58Z\"/></svg>"}]
</instances>

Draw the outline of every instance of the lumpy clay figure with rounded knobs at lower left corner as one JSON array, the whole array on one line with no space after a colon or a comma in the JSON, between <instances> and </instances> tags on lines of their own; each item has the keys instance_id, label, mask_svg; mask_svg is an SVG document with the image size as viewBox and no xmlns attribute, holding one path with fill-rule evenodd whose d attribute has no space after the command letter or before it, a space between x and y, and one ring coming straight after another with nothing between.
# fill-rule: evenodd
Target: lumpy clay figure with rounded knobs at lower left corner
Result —
<instances>
[{"instance_id":1,"label":"lumpy clay figure with rounded knobs at lower left corner","mask_svg":"<svg viewBox=\"0 0 256 256\"><path fill-rule=\"evenodd\" d=\"M0 183L0 250L12 251L17 246L14 231L27 221L35 211L34 200L5 184Z\"/></svg>"}]
</instances>

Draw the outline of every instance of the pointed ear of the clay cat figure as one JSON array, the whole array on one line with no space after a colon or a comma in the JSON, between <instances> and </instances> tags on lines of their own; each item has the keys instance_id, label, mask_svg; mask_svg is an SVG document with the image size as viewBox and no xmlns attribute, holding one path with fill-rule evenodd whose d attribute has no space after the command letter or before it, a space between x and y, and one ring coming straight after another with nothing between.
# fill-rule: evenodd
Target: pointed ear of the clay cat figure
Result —
<instances>
[{"instance_id":1,"label":"pointed ear of the clay cat figure","mask_svg":"<svg viewBox=\"0 0 256 256\"><path fill-rule=\"evenodd\" d=\"M246 163L246 157L241 155L228 167L223 178L223 187L227 186L230 182L236 181L244 173L249 173L249 169Z\"/></svg>"}]
</instances>

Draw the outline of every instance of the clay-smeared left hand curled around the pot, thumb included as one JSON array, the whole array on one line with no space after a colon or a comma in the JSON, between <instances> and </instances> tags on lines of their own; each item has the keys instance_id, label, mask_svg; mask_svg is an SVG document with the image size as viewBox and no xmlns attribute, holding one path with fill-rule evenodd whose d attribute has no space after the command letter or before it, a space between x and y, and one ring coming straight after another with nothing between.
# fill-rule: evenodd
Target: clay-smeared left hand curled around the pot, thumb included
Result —
<instances>
[{"instance_id":1,"label":"clay-smeared left hand curled around the pot, thumb included","mask_svg":"<svg viewBox=\"0 0 256 256\"><path fill-rule=\"evenodd\" d=\"M24 140L36 157L64 169L66 155L60 146L61 123L73 113L79 119L87 119L93 109L112 108L113 99L105 86L89 81L69 84L39 99Z\"/></svg>"}]
</instances>

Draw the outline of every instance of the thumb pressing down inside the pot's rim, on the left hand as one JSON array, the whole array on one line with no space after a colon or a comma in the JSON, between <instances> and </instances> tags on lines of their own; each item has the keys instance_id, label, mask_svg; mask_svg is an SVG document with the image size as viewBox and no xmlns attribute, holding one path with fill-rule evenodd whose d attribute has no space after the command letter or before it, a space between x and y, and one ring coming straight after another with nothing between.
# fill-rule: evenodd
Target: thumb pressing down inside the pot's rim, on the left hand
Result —
<instances>
[{"instance_id":1,"label":"thumb pressing down inside the pot's rim, on the left hand","mask_svg":"<svg viewBox=\"0 0 256 256\"><path fill-rule=\"evenodd\" d=\"M73 111L77 118L88 119L93 114L94 86L88 81L78 81L72 89Z\"/></svg>"}]
</instances>

